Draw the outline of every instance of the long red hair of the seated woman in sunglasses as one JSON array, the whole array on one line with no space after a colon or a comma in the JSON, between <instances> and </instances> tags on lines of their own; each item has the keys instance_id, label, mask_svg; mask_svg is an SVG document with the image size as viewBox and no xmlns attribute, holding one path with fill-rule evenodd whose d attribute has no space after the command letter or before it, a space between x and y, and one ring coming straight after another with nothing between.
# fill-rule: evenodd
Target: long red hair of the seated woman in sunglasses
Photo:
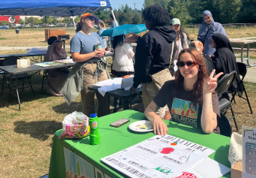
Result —
<instances>
[{"instance_id":1,"label":"long red hair of the seated woman in sunglasses","mask_svg":"<svg viewBox=\"0 0 256 178\"><path fill-rule=\"evenodd\" d=\"M193 61L196 62L196 68L198 65L198 79L196 81L196 83L194 84L193 87L193 95L194 100L193 102L202 104L202 99L203 99L203 84L204 84L204 80L207 78L207 71L206 71L206 65L205 65L205 60L202 59L201 54L195 50L195 49L184 49L181 50L177 59L177 62L180 62L180 56L184 53L189 53L190 56L192 57ZM194 68L195 68L194 67ZM178 68L178 70L175 72L174 74L175 76L175 86L173 91L173 95L177 95L179 94L181 91L183 91L184 89L184 77L180 74L180 69Z\"/></svg>"}]
</instances>

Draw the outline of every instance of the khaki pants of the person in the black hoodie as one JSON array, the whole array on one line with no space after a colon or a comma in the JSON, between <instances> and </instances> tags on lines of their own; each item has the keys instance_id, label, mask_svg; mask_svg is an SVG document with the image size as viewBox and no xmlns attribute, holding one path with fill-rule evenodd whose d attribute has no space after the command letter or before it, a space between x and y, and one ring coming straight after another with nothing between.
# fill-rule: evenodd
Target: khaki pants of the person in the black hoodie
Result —
<instances>
[{"instance_id":1,"label":"khaki pants of the person in the black hoodie","mask_svg":"<svg viewBox=\"0 0 256 178\"><path fill-rule=\"evenodd\" d=\"M159 92L159 89L156 88L156 85L151 83L142 83L142 98L144 109L146 110L147 106L153 101L153 98L156 96L156 93ZM156 114L161 118L165 116L166 107L160 107L159 110L156 111Z\"/></svg>"}]
</instances>

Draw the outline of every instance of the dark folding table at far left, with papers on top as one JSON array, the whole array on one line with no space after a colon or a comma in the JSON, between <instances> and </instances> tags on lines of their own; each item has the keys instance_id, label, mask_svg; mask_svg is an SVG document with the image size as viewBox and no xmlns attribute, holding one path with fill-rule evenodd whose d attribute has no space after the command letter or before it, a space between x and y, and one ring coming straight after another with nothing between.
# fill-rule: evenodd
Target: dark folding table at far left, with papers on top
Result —
<instances>
[{"instance_id":1,"label":"dark folding table at far left, with papers on top","mask_svg":"<svg viewBox=\"0 0 256 178\"><path fill-rule=\"evenodd\" d=\"M39 63L37 63L39 64ZM17 65L7 65L7 66L1 66L0 70L4 71L5 74L10 74L11 75L11 83L10 83L10 88L9 88L9 94L14 95L15 97L17 97L17 100L19 102L19 111L20 111L20 96L19 96L19 91L18 91L18 81L17 81L17 77L18 74L24 74L24 73L28 73L28 72L35 72L33 74L36 74L39 71L42 70L49 70L49 69L55 69L55 68L66 68L66 67L71 67L75 65L75 63L63 63L60 65L51 65L51 66L47 66L47 67L41 67L39 65L33 65L31 64L30 67L28 68L17 68ZM30 76L32 76L33 74L30 74ZM12 76L15 76L16 80L15 80L15 91L16 94L13 93L12 91L12 86L13 86L13 80L12 80Z\"/></svg>"}]
</instances>

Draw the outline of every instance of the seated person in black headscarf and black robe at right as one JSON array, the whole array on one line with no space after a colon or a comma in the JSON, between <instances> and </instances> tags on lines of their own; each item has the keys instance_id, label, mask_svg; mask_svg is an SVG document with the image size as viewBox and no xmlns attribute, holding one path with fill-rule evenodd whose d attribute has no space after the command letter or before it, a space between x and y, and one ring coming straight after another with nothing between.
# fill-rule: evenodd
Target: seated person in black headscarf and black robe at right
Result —
<instances>
[{"instance_id":1,"label":"seated person in black headscarf and black robe at right","mask_svg":"<svg viewBox=\"0 0 256 178\"><path fill-rule=\"evenodd\" d=\"M230 74L232 71L237 72L236 80L233 81L229 89L231 92L235 92L240 82L240 76L239 69L236 65L236 56L233 53L230 40L225 35L216 33L211 36L211 47L216 49L211 59L217 74L223 72L224 74L221 75L221 77L223 77L225 74ZM221 77L219 78L220 80Z\"/></svg>"}]
</instances>

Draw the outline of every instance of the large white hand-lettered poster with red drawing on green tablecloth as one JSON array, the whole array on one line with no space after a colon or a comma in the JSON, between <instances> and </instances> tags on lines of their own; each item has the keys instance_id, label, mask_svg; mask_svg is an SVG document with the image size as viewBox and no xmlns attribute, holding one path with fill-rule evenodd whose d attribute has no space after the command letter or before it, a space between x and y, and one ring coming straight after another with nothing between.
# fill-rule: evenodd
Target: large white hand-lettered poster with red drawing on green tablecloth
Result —
<instances>
[{"instance_id":1,"label":"large white hand-lettered poster with red drawing on green tablecloth","mask_svg":"<svg viewBox=\"0 0 256 178\"><path fill-rule=\"evenodd\" d=\"M177 176L213 152L214 149L166 134L156 135L101 160L130 177L167 178Z\"/></svg>"}]
</instances>

